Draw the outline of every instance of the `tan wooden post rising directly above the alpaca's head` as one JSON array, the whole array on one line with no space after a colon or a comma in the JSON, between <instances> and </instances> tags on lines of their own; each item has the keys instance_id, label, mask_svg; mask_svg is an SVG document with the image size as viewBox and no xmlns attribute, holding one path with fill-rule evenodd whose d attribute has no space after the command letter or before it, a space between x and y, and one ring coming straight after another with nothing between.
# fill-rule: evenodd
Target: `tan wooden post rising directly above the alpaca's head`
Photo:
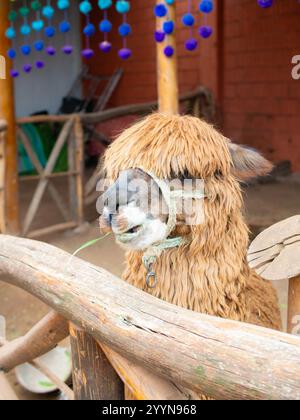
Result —
<instances>
[{"instance_id":1,"label":"tan wooden post rising directly above the alpaca's head","mask_svg":"<svg viewBox=\"0 0 300 420\"><path fill-rule=\"evenodd\" d=\"M157 4L161 0L156 0ZM168 6L169 14L166 19L176 20L175 4ZM161 29L163 19L157 18L156 27ZM174 55L166 57L164 49L166 43L157 43L157 86L159 111L167 114L178 114L178 74L175 35L168 36L168 45L174 48Z\"/></svg>"}]
</instances>

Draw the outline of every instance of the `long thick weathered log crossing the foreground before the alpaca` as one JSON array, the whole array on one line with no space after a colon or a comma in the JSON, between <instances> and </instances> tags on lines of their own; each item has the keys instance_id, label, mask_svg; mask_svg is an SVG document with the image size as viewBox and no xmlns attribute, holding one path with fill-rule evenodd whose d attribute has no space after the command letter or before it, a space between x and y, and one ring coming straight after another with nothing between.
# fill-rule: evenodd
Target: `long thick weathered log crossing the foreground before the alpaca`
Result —
<instances>
[{"instance_id":1,"label":"long thick weathered log crossing the foreground before the alpaca","mask_svg":"<svg viewBox=\"0 0 300 420\"><path fill-rule=\"evenodd\" d=\"M300 399L300 339L158 300L55 247L0 236L0 278L159 376L215 399Z\"/></svg>"}]
</instances>

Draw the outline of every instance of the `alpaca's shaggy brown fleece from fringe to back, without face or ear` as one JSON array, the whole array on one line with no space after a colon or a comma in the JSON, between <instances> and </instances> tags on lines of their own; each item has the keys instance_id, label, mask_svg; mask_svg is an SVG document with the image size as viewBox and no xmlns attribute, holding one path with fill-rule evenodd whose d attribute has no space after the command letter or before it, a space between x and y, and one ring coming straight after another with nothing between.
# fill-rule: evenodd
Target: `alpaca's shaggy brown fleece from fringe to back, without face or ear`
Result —
<instances>
[{"instance_id":1,"label":"alpaca's shaggy brown fleece from fringe to back, without face or ear","mask_svg":"<svg viewBox=\"0 0 300 420\"><path fill-rule=\"evenodd\" d=\"M184 308L281 329L275 290L247 264L248 229L228 139L198 118L152 114L115 140L104 166L112 180L137 167L168 179L188 173L205 180L209 196L204 223L177 228L190 243L158 259L155 289L146 287L141 252L127 253L124 280Z\"/></svg>"}]
</instances>

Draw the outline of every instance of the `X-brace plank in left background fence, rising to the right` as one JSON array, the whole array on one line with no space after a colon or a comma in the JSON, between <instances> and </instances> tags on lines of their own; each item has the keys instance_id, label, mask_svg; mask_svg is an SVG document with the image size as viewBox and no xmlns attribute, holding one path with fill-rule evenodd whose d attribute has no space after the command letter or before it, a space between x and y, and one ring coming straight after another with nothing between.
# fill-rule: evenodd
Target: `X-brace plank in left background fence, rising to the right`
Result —
<instances>
[{"instance_id":1,"label":"X-brace plank in left background fence, rising to the right","mask_svg":"<svg viewBox=\"0 0 300 420\"><path fill-rule=\"evenodd\" d=\"M73 123L74 123L73 119L68 120L65 123L63 129L61 130L60 135L59 135L59 137L58 137L58 139L55 143L55 146L52 150L52 153L51 153L51 155L48 159L46 168L44 170L44 174L46 176L53 171L54 165L55 165L55 163L58 159L58 156L61 152L61 149L63 148L64 144L66 143L66 141L69 137L70 131L71 131L72 126L73 126ZM25 220L24 220L24 224L23 224L23 235L26 235L29 231L29 228L30 228L30 226L33 222L33 219L36 215L36 212L39 208L41 199L42 199L42 197L45 193L48 182L49 182L49 179L47 177L45 177L45 178L41 179L39 184L38 184L38 187L37 187L37 189L34 193L34 196L32 198L32 201L31 201L30 205L29 205L27 214L25 216Z\"/></svg>"}]
</instances>

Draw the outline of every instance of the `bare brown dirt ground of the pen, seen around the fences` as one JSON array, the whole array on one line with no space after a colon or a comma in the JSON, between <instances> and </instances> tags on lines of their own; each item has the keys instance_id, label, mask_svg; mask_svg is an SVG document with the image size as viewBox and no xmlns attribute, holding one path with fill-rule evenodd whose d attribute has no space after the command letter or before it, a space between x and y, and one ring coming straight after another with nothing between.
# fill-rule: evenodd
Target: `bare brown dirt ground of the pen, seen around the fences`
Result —
<instances>
[{"instance_id":1,"label":"bare brown dirt ground of the pen, seen around the fences","mask_svg":"<svg viewBox=\"0 0 300 420\"><path fill-rule=\"evenodd\" d=\"M29 192L24 188L24 203L29 197ZM266 227L287 217L300 213L300 183L298 178L286 179L284 182L265 185L255 185L244 188L247 221L253 235ZM49 201L50 203L50 201ZM36 226L45 225L45 219L52 213L46 200L42 211L39 213ZM48 205L49 204L49 205ZM79 231L60 233L41 238L41 240L58 246L73 253L85 242L98 237L96 213L93 208L88 211L89 223ZM102 266L116 275L122 272L123 251L114 243L113 238L106 238L91 248L81 252L80 257ZM283 321L286 323L287 282L275 284L279 293L282 307ZM34 323L43 317L48 308L29 296L27 293L14 287L0 283L0 313L7 320L7 338L14 339L24 334ZM36 396L24 391L17 383L14 374L10 380L21 399L33 399Z\"/></svg>"}]
</instances>

